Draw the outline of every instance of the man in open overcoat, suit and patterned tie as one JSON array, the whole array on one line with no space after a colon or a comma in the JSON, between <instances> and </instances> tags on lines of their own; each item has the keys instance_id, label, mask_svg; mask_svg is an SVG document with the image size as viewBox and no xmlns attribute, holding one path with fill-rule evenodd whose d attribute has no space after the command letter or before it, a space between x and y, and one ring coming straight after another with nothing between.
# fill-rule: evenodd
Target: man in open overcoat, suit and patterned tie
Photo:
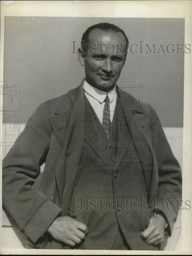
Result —
<instances>
[{"instance_id":1,"label":"man in open overcoat, suit and patterned tie","mask_svg":"<svg viewBox=\"0 0 192 256\"><path fill-rule=\"evenodd\" d=\"M27 234L27 248L159 250L173 229L177 213L167 203L181 197L180 167L161 129L157 145L146 142L144 125L147 132L159 125L152 107L116 84L128 43L113 24L88 28L78 50L86 78L29 120L38 124L30 140L38 168L17 163L16 146L4 160L3 204Z\"/></svg>"}]
</instances>

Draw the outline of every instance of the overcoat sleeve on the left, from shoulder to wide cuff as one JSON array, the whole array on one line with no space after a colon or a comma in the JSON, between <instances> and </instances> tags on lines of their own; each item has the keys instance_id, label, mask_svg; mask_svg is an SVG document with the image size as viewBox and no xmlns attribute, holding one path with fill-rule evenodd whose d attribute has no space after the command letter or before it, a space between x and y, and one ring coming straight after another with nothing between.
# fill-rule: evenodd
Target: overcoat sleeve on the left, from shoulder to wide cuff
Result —
<instances>
[{"instance_id":1,"label":"overcoat sleeve on the left, from shoulder to wide cuff","mask_svg":"<svg viewBox=\"0 0 192 256\"><path fill-rule=\"evenodd\" d=\"M27 159L29 154L30 161L18 162L17 141L3 160L3 205L33 242L46 232L61 211L42 192L32 187L49 150L52 134L50 115L49 105L45 102L29 119L38 126L36 131L30 132L30 151L23 151L23 157ZM28 132L27 127L22 134L25 132ZM13 160L10 161L10 157ZM31 164L36 165L35 168L31 168Z\"/></svg>"}]
</instances>

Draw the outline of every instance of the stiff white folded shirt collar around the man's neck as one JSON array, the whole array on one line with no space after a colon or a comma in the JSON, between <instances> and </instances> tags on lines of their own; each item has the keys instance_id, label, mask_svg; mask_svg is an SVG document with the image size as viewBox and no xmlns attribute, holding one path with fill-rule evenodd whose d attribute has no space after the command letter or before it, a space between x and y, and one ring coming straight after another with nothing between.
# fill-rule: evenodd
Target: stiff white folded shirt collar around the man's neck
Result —
<instances>
[{"instance_id":1,"label":"stiff white folded shirt collar around the man's neck","mask_svg":"<svg viewBox=\"0 0 192 256\"><path fill-rule=\"evenodd\" d=\"M91 95L93 98L98 100L100 103L103 103L103 101L106 98L107 92L102 91L98 88L93 87L91 84L89 84L86 80L84 80L83 83L83 89ZM113 99L116 96L116 87L114 87L111 91L108 92L109 102L111 103Z\"/></svg>"}]
</instances>

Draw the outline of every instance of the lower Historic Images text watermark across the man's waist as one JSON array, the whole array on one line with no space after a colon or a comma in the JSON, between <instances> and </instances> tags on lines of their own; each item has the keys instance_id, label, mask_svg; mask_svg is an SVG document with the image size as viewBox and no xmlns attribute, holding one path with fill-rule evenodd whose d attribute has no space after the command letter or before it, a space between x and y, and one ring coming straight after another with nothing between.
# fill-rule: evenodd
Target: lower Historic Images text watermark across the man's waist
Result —
<instances>
[{"instance_id":1,"label":"lower Historic Images text watermark across the man's waist","mask_svg":"<svg viewBox=\"0 0 192 256\"><path fill-rule=\"evenodd\" d=\"M71 210L190 210L191 200L143 200L138 197L134 200L112 200L112 199L85 199L84 197L71 197ZM78 207L78 208L77 208Z\"/></svg>"}]
</instances>

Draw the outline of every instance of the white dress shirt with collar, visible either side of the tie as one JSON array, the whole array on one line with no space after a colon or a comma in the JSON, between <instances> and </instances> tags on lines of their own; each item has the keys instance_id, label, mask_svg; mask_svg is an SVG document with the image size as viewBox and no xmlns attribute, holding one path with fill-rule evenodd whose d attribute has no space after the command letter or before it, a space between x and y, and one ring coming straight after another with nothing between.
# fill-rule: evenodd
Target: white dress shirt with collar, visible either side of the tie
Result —
<instances>
[{"instance_id":1,"label":"white dress shirt with collar, visible either side of the tie","mask_svg":"<svg viewBox=\"0 0 192 256\"><path fill-rule=\"evenodd\" d=\"M83 90L92 108L94 109L99 121L102 124L103 109L105 105L104 100L106 98L107 92L93 87L86 80L84 80L84 83L83 83ZM109 107L110 107L110 120L112 122L113 114L115 111L115 104L116 104L116 88L115 87L108 92L108 97L109 97Z\"/></svg>"}]
</instances>

